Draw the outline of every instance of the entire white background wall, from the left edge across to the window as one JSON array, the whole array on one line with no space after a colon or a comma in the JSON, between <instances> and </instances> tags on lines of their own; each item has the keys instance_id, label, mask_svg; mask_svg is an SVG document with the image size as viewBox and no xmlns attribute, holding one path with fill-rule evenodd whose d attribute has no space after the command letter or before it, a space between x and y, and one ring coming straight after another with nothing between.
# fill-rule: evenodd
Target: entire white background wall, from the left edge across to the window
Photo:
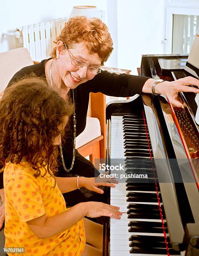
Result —
<instances>
[{"instance_id":1,"label":"entire white background wall, from the left edge across to the window","mask_svg":"<svg viewBox=\"0 0 199 256\"><path fill-rule=\"evenodd\" d=\"M142 54L163 54L166 7L198 7L199 0L7 0L0 3L0 52L13 49L14 39L2 32L70 15L75 5L96 5L107 13L114 51L108 65L140 67Z\"/></svg>"}]
</instances>

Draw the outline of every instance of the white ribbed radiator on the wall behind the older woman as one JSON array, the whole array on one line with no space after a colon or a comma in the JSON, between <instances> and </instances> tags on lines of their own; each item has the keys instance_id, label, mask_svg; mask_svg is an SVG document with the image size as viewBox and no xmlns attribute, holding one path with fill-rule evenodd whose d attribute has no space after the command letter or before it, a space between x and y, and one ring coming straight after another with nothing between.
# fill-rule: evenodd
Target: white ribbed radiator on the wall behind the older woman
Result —
<instances>
[{"instance_id":1,"label":"white ribbed radiator on the wall behind the older woman","mask_svg":"<svg viewBox=\"0 0 199 256\"><path fill-rule=\"evenodd\" d=\"M27 48L34 61L49 58L55 47L53 41L60 34L67 20L68 18L61 18L17 28L20 31L20 38L15 39L17 48Z\"/></svg>"}]
</instances>

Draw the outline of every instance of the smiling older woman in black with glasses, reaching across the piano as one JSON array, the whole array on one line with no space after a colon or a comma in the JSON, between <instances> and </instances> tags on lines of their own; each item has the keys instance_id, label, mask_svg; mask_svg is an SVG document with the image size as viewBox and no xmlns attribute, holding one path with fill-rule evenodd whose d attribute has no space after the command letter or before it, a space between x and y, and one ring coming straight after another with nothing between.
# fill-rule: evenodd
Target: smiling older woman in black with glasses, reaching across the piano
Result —
<instances>
[{"instance_id":1,"label":"smiling older woman in black with glasses, reaching across the piano","mask_svg":"<svg viewBox=\"0 0 199 256\"><path fill-rule=\"evenodd\" d=\"M128 97L141 92L151 93L154 79L117 75L100 70L100 66L112 52L113 43L107 26L97 18L70 18L55 43L52 58L22 68L8 86L18 77L35 73L45 76L48 85L65 100L72 100L75 112L70 120L70 134L67 134L65 142L60 146L58 176L94 177L95 169L92 163L75 150L76 136L85 129L90 92L102 92L118 97ZM188 84L199 86L199 81L192 77L174 82L164 81L156 85L155 92L166 95L172 104L183 108L182 103L177 100L178 92L199 92L198 89L185 86ZM65 199L68 204L74 204L87 200L102 201L103 195L98 196L86 189L77 189L67 193Z\"/></svg>"}]
</instances>

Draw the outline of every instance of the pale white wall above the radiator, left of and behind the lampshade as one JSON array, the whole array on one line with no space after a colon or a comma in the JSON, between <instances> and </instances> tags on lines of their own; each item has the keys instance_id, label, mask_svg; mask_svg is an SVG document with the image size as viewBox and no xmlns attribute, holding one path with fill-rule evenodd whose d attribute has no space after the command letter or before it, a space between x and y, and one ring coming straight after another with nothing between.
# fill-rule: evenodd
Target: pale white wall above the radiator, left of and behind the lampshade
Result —
<instances>
[{"instance_id":1,"label":"pale white wall above the radiator, left of and behind the lampshade","mask_svg":"<svg viewBox=\"0 0 199 256\"><path fill-rule=\"evenodd\" d=\"M107 0L2 0L0 1L0 52L15 48L12 37L3 32L20 26L62 18L70 15L75 5L95 5L107 9Z\"/></svg>"}]
</instances>

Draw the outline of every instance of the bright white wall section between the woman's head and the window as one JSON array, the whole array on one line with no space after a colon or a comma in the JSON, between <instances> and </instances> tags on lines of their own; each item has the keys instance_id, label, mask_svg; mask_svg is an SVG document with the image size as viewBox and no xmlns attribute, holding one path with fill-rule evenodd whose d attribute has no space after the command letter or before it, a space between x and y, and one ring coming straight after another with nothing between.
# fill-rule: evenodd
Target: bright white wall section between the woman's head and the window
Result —
<instances>
[{"instance_id":1,"label":"bright white wall section between the woman's head and the window","mask_svg":"<svg viewBox=\"0 0 199 256\"><path fill-rule=\"evenodd\" d=\"M164 0L119 0L118 67L137 74L142 54L162 54Z\"/></svg>"}]
</instances>

